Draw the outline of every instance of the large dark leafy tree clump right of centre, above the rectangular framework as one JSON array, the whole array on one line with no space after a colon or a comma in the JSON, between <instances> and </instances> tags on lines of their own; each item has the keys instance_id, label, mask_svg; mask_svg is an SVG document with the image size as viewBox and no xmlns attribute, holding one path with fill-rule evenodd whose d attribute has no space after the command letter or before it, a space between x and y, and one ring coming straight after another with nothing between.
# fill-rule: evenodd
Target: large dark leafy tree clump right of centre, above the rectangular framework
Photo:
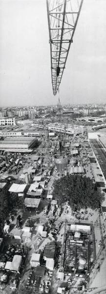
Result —
<instances>
[{"instance_id":1,"label":"large dark leafy tree clump right of centre, above the rectangular framework","mask_svg":"<svg viewBox=\"0 0 106 294\"><path fill-rule=\"evenodd\" d=\"M53 196L62 205L68 202L74 210L81 208L96 209L104 201L104 196L99 193L93 181L82 175L66 175L55 181Z\"/></svg>"}]
</instances>

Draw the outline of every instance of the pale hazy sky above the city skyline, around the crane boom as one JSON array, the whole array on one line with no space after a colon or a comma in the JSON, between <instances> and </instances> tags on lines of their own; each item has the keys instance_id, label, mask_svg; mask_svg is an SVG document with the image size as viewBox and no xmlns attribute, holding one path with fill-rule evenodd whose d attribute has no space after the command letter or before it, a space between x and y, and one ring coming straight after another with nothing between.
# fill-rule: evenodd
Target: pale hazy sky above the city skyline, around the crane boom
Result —
<instances>
[{"instance_id":1,"label":"pale hazy sky above the city skyline, around the crane boom","mask_svg":"<svg viewBox=\"0 0 106 294\"><path fill-rule=\"evenodd\" d=\"M46 0L0 0L0 106L56 104ZM61 103L106 102L106 0L84 0Z\"/></svg>"}]
</instances>

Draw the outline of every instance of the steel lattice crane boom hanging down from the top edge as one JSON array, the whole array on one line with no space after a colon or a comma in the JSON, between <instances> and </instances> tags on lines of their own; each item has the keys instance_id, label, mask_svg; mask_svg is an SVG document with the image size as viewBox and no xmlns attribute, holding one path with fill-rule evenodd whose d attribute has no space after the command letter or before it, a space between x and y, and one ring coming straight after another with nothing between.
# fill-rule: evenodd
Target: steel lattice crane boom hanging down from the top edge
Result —
<instances>
[{"instance_id":1,"label":"steel lattice crane boom hanging down from the top edge","mask_svg":"<svg viewBox=\"0 0 106 294\"><path fill-rule=\"evenodd\" d=\"M61 83L83 0L46 0L53 94Z\"/></svg>"}]
</instances>

